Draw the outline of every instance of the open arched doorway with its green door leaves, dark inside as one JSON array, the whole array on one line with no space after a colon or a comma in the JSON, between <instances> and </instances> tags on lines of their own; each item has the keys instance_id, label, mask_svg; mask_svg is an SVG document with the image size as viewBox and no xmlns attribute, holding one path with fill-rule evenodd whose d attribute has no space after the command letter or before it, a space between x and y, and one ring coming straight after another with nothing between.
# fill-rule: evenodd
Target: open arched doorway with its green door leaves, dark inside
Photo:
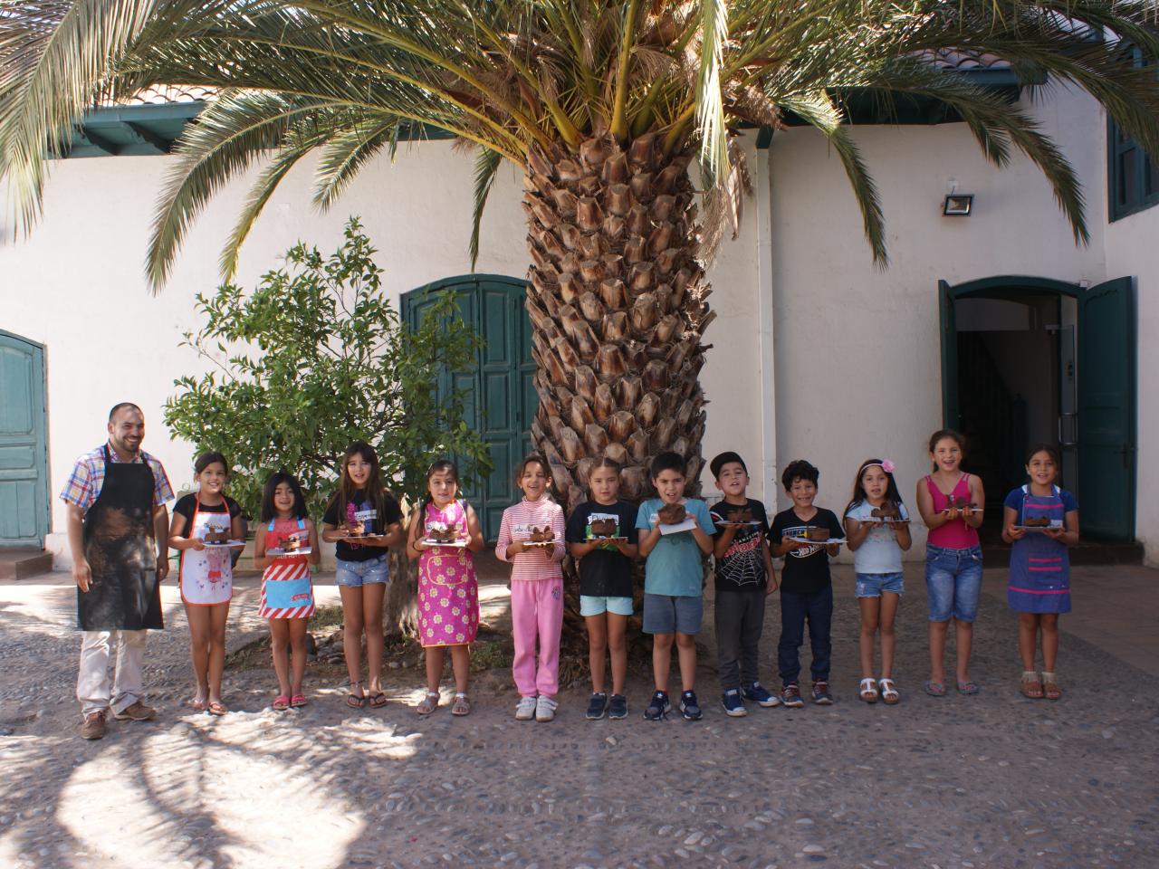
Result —
<instances>
[{"instance_id":1,"label":"open arched doorway with its green door leaves, dark inside","mask_svg":"<svg viewBox=\"0 0 1159 869\"><path fill-rule=\"evenodd\" d=\"M1095 286L1007 275L939 283L945 424L969 437L963 467L986 491L984 536L1023 482L1026 452L1057 444L1084 539L1132 541L1136 498L1135 282Z\"/></svg>"}]
</instances>

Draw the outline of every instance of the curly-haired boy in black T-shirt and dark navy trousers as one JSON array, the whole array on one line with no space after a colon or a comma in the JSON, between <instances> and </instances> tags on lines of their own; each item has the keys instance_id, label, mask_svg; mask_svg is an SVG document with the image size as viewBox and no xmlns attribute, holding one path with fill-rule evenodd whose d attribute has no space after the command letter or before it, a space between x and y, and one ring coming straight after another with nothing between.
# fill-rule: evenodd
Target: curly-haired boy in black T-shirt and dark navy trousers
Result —
<instances>
[{"instance_id":1,"label":"curly-haired boy in black T-shirt and dark navy trousers","mask_svg":"<svg viewBox=\"0 0 1159 869\"><path fill-rule=\"evenodd\" d=\"M841 547L821 541L801 542L809 528L825 528L830 539L845 534L832 511L814 506L819 477L821 472L809 462L801 459L789 462L781 474L781 483L793 498L793 506L775 516L768 532L773 555L786 556L781 570L781 640L777 645L777 664L782 682L780 700L794 708L804 706L797 677L806 621L812 648L812 702L821 706L833 702L829 693L829 658L833 648L829 635L833 621L829 556L837 555Z\"/></svg>"}]
</instances>

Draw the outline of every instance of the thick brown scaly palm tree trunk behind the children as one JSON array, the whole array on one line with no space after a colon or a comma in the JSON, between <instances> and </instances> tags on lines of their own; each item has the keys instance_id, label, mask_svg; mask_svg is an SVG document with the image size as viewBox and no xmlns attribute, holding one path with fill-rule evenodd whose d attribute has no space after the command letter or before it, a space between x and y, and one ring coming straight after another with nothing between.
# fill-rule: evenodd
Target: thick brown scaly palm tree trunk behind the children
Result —
<instances>
[{"instance_id":1,"label":"thick brown scaly palm tree trunk behind the children","mask_svg":"<svg viewBox=\"0 0 1159 869\"><path fill-rule=\"evenodd\" d=\"M600 455L624 467L629 501L651 492L648 466L664 451L685 458L688 494L699 492L700 336L714 314L695 261L688 162L664 155L654 134L627 148L606 136L577 153L529 155L527 313L539 393L531 433L568 511Z\"/></svg>"}]
</instances>

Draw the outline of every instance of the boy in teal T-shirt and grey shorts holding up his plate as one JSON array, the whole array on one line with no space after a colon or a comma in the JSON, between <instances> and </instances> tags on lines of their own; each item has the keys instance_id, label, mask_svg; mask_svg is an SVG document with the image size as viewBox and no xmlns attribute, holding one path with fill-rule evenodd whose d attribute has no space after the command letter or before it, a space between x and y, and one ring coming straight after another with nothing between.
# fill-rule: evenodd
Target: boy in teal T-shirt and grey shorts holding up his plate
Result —
<instances>
[{"instance_id":1,"label":"boy in teal T-shirt and grey shorts holding up his plate","mask_svg":"<svg viewBox=\"0 0 1159 869\"><path fill-rule=\"evenodd\" d=\"M693 691L697 676L697 634L704 616L702 555L713 552L716 528L702 501L684 497L684 459L677 453L661 453L651 463L653 485L659 495L640 505L636 528L640 530L640 554L648 561L644 567L644 625L653 635L653 674L656 693L644 709L644 717L659 721L671 710L668 700L668 677L672 664L672 642L676 641L680 662L680 714L688 721L700 718L700 704ZM681 512L681 521L669 527L661 519L661 511ZM680 528L687 525L686 528ZM670 532L670 533L664 533Z\"/></svg>"}]
</instances>

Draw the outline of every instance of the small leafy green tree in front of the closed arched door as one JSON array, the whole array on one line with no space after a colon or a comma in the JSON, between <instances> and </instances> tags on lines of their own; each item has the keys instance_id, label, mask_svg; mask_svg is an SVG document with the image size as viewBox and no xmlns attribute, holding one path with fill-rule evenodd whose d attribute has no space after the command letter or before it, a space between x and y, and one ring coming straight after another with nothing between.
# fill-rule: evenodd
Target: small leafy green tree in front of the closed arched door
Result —
<instances>
[{"instance_id":1,"label":"small leafy green tree in front of the closed arched door","mask_svg":"<svg viewBox=\"0 0 1159 869\"><path fill-rule=\"evenodd\" d=\"M411 502L439 455L458 457L468 480L490 469L482 438L464 422L464 395L438 389L442 371L474 364L479 336L450 292L410 329L382 295L374 253L351 218L329 257L299 242L252 294L223 284L197 295L205 323L183 344L211 370L174 381L165 422L199 452L225 453L229 491L252 517L265 479L284 468L320 520L355 440L374 446L394 494ZM394 561L396 578L410 576L404 558ZM398 628L413 587L395 585L386 609Z\"/></svg>"}]
</instances>

